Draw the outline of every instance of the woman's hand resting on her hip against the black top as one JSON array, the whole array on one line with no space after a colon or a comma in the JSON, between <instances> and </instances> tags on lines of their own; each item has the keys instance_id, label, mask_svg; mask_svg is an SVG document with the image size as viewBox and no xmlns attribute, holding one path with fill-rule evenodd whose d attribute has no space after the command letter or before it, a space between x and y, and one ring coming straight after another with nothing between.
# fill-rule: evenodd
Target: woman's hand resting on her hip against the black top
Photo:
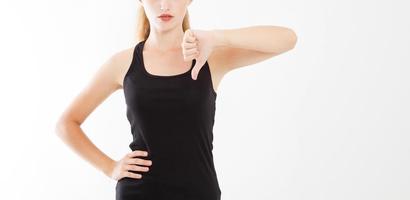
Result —
<instances>
[{"instance_id":1,"label":"woman's hand resting on her hip against the black top","mask_svg":"<svg viewBox=\"0 0 410 200\"><path fill-rule=\"evenodd\" d=\"M130 172L132 171L141 171L147 172L149 170L146 166L151 166L151 160L144 160L141 158L135 158L136 156L147 156L148 152L135 150L130 153L127 153L121 160L115 161L111 170L108 172L108 176L115 180L120 180L123 177L130 177L135 179L141 179L142 175L140 173ZM140 166L145 165L145 166Z\"/></svg>"}]
</instances>

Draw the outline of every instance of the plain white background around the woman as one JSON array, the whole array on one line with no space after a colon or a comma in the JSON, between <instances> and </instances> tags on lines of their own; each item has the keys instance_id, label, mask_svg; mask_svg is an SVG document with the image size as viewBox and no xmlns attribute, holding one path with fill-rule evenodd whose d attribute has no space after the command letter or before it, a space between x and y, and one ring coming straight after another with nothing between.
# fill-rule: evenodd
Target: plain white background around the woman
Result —
<instances>
[{"instance_id":1,"label":"plain white background around the woman","mask_svg":"<svg viewBox=\"0 0 410 200\"><path fill-rule=\"evenodd\" d=\"M136 0L0 4L0 199L114 199L115 181L54 134L113 53L135 44ZM223 200L410 199L410 15L394 1L194 0L193 29L278 25L295 49L228 73L214 158ZM83 130L129 152L123 91Z\"/></svg>"}]
</instances>

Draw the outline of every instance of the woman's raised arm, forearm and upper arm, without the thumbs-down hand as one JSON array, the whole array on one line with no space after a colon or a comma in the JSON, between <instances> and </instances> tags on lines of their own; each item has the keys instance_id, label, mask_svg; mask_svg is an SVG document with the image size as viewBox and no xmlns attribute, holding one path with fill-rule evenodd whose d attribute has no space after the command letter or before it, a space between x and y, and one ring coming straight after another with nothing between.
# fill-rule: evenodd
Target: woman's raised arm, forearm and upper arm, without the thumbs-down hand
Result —
<instances>
[{"instance_id":1,"label":"woman's raised arm, forearm and upper arm, without the thumbs-down hand","mask_svg":"<svg viewBox=\"0 0 410 200\"><path fill-rule=\"evenodd\" d=\"M212 61L219 70L229 71L261 62L293 49L296 33L280 26L251 26L214 29Z\"/></svg>"}]
</instances>

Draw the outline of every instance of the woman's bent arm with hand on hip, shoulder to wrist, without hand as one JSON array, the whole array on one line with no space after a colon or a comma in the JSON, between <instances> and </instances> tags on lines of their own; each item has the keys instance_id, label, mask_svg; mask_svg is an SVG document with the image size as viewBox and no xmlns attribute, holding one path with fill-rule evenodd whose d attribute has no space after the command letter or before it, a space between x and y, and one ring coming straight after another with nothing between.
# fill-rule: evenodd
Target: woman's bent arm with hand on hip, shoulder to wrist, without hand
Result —
<instances>
[{"instance_id":1,"label":"woman's bent arm with hand on hip, shoulder to wrist, without hand","mask_svg":"<svg viewBox=\"0 0 410 200\"><path fill-rule=\"evenodd\" d=\"M120 89L124 67L129 66L132 49L123 50L109 58L89 84L63 112L55 127L56 134L82 158L104 174L114 167L115 161L98 149L81 129L90 113L109 95Z\"/></svg>"}]
</instances>

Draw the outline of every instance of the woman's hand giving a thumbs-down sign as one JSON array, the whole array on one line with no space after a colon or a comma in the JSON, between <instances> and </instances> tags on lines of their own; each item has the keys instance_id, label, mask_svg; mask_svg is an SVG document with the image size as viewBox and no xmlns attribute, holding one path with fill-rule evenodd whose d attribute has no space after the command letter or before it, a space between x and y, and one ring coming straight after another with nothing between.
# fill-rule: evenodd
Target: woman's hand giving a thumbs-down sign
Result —
<instances>
[{"instance_id":1,"label":"woman's hand giving a thumbs-down sign","mask_svg":"<svg viewBox=\"0 0 410 200\"><path fill-rule=\"evenodd\" d=\"M192 79L196 80L199 71L215 48L214 33L188 29L185 31L181 46L185 61L196 60L191 74Z\"/></svg>"}]
</instances>

